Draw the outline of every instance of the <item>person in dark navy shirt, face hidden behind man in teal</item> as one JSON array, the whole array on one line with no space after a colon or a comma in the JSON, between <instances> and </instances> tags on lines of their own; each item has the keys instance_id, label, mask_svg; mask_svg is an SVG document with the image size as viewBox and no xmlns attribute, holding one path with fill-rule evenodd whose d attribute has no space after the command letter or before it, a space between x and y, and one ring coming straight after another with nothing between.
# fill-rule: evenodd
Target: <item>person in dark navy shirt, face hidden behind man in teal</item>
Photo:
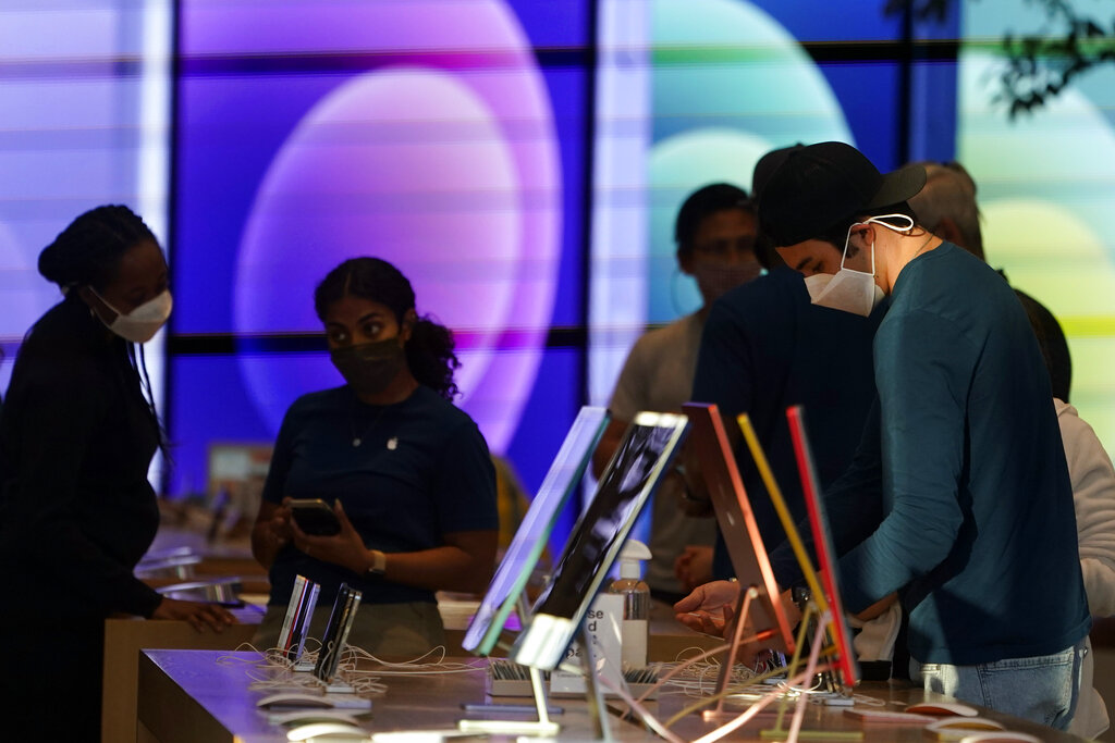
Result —
<instances>
[{"instance_id":1,"label":"person in dark navy shirt, face hidden behind man in teal","mask_svg":"<svg viewBox=\"0 0 1115 743\"><path fill-rule=\"evenodd\" d=\"M762 208L763 188L785 157L802 145L774 149L755 165L752 194ZM756 255L767 273L717 300L700 340L692 400L716 403L733 439L736 460L749 493L764 492L736 417L746 412L768 452L770 466L795 519L805 517L805 501L797 479L797 465L785 410L804 404L814 414L809 422L821 481L835 480L852 462L867 408L875 394L871 364L871 340L883 316L880 307L871 317L830 312L809 303L802 275L783 265L765 235L756 239ZM831 248L838 260L835 247ZM688 468L687 468L688 469ZM691 477L690 499L707 499L704 482ZM763 540L768 549L786 537L768 498L753 498ZM698 506L692 504L691 509ZM700 560L679 563L678 571L688 589L708 580L694 569ZM712 575L731 576L727 553L719 540ZM685 612L681 620L685 622Z\"/></svg>"}]
</instances>

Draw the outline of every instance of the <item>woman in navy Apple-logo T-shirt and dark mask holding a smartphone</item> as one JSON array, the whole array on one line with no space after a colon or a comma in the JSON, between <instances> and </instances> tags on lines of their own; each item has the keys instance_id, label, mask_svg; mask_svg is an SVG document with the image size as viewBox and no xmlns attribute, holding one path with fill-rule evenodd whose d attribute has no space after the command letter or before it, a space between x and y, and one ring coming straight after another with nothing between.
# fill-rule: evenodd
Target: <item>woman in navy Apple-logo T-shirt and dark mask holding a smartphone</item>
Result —
<instances>
[{"instance_id":1,"label":"woman in navy Apple-logo T-shirt and dark mask holding a smartphone","mask_svg":"<svg viewBox=\"0 0 1115 743\"><path fill-rule=\"evenodd\" d=\"M314 309L346 384L297 400L279 431L252 532L271 573L256 645L275 644L303 575L321 585L311 637L321 637L343 581L363 594L350 644L421 654L445 642L434 592L482 592L492 577L498 517L487 444L450 402L452 334L416 314L395 266L346 261L318 286ZM291 499L326 501L338 532L320 534L331 530L320 514L292 517Z\"/></svg>"}]
</instances>

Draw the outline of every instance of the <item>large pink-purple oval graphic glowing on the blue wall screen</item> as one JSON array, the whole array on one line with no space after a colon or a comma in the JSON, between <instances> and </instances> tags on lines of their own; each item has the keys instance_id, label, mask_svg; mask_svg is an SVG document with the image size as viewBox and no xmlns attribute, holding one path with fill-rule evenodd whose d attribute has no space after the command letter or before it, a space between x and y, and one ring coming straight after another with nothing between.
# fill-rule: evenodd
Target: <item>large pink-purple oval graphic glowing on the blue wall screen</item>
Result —
<instances>
[{"instance_id":1,"label":"large pink-purple oval graphic glowing on the blue wall screen","mask_svg":"<svg viewBox=\"0 0 1115 743\"><path fill-rule=\"evenodd\" d=\"M337 8L289 7L261 27L248 8L214 4L184 29L190 55L405 58L348 76L273 153L237 246L232 330L318 331L316 282L345 258L384 257L410 277L419 312L459 332L463 405L503 450L558 278L561 173L545 85L501 2ZM302 392L339 381L319 358L274 374L269 359L244 355L241 369L270 427Z\"/></svg>"}]
</instances>

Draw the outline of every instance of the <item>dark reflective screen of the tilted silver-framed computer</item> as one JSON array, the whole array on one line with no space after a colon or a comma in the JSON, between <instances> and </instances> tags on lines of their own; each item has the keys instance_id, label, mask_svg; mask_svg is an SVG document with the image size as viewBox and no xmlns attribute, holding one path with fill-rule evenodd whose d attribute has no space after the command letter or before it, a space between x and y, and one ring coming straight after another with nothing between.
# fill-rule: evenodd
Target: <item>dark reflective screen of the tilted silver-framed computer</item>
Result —
<instances>
[{"instance_id":1,"label":"dark reflective screen of the tilted silver-framed computer","mask_svg":"<svg viewBox=\"0 0 1115 743\"><path fill-rule=\"evenodd\" d=\"M663 423L676 423L653 426L640 424L642 417L640 413L628 429L597 487L595 498L576 522L553 580L534 607L536 615L580 618L666 470L686 419L653 416L665 419Z\"/></svg>"}]
</instances>

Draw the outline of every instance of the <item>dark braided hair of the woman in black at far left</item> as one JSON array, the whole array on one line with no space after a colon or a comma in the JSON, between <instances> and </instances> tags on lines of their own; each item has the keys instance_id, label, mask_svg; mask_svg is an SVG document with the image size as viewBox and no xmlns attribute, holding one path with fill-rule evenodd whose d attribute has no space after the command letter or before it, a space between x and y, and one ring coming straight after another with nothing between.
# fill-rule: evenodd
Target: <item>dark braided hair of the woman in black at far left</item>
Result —
<instances>
[{"instance_id":1,"label":"dark braided hair of the woman in black at far left","mask_svg":"<svg viewBox=\"0 0 1115 743\"><path fill-rule=\"evenodd\" d=\"M98 206L79 215L39 253L39 273L64 292L74 286L104 289L116 277L120 258L139 243L158 244L126 206Z\"/></svg>"}]
</instances>

